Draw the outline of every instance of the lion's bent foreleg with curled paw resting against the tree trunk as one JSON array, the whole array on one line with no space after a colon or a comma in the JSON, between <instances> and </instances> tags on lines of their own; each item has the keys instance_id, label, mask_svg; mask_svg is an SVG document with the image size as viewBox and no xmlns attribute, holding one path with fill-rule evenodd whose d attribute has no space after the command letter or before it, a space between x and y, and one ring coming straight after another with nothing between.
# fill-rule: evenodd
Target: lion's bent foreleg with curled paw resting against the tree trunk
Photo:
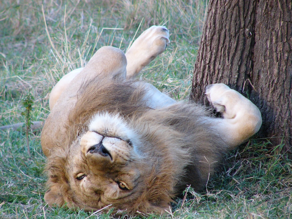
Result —
<instances>
[{"instance_id":1,"label":"lion's bent foreleg with curled paw resting against the tree trunk","mask_svg":"<svg viewBox=\"0 0 292 219\"><path fill-rule=\"evenodd\" d=\"M206 88L206 95L223 119L212 118L214 128L232 150L259 131L262 116L259 109L247 98L225 84Z\"/></svg>"}]
</instances>

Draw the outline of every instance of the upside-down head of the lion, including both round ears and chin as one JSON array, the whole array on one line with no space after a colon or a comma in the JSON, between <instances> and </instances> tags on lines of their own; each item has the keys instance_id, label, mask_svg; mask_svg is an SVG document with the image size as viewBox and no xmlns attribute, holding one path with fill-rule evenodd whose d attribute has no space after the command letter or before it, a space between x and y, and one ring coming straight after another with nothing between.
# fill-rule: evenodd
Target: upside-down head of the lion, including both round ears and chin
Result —
<instances>
[{"instance_id":1,"label":"upside-down head of the lion, including both round ears and chin","mask_svg":"<svg viewBox=\"0 0 292 219\"><path fill-rule=\"evenodd\" d=\"M85 210L169 210L176 181L160 167L166 160L151 158L148 144L120 115L97 113L67 151L49 157L45 201Z\"/></svg>"}]
</instances>

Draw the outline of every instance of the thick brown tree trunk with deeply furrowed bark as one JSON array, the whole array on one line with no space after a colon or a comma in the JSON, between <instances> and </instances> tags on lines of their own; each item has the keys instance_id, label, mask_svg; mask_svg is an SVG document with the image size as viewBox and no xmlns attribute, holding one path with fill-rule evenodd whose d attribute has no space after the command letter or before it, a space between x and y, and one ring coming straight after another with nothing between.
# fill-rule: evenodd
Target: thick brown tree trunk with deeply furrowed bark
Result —
<instances>
[{"instance_id":1,"label":"thick brown tree trunk with deeply furrowed bark","mask_svg":"<svg viewBox=\"0 0 292 219\"><path fill-rule=\"evenodd\" d=\"M292 152L292 1L210 0L191 100L225 83L262 113L259 137Z\"/></svg>"}]
</instances>

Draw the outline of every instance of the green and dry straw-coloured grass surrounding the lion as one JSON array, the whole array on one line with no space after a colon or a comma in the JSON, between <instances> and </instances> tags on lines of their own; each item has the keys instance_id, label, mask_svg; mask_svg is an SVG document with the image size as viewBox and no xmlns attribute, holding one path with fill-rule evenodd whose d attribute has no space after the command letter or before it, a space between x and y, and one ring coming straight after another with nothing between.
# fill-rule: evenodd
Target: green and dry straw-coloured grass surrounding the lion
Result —
<instances>
[{"instance_id":1,"label":"green and dry straw-coloured grass surrounding the lion","mask_svg":"<svg viewBox=\"0 0 292 219\"><path fill-rule=\"evenodd\" d=\"M29 90L32 121L45 120L48 94L64 74L84 66L104 45L126 51L136 31L139 35L151 25L167 26L171 43L141 79L175 99L187 99L205 9L203 0L0 3L0 124L25 121L22 99ZM96 218L46 206L40 130L30 133L29 147L30 156L25 132L0 130L0 218ZM261 140L242 145L227 155L206 192L187 189L166 217L291 218L292 165L281 147L271 151Z\"/></svg>"}]
</instances>

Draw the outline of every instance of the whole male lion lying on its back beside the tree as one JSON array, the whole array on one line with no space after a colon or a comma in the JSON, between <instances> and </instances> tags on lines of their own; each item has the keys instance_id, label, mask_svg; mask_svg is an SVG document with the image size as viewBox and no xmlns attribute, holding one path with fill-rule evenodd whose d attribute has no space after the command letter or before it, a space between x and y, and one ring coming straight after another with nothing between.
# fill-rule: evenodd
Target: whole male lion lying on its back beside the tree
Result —
<instances>
[{"instance_id":1,"label":"whole male lion lying on its back beside the tree","mask_svg":"<svg viewBox=\"0 0 292 219\"><path fill-rule=\"evenodd\" d=\"M161 214L186 185L204 189L224 153L259 130L259 109L224 84L206 90L215 118L135 81L167 43L169 31L152 26L126 54L102 47L54 87L41 136L50 206Z\"/></svg>"}]
</instances>

